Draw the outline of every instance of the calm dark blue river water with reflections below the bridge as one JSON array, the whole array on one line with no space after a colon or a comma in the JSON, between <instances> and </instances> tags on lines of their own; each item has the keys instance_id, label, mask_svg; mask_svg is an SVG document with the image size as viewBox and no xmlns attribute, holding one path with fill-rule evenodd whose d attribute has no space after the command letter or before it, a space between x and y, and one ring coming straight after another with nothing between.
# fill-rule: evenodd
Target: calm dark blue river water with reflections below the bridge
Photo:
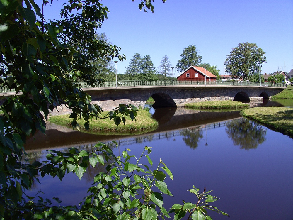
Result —
<instances>
[{"instance_id":1,"label":"calm dark blue river water with reflections below the bridge","mask_svg":"<svg viewBox=\"0 0 293 220\"><path fill-rule=\"evenodd\" d=\"M284 105L284 103L282 103ZM272 104L279 105L279 104ZM292 106L291 104L285 104ZM160 158L173 172L166 178L174 197L165 197L165 207L196 202L189 192L193 185L220 198L211 204L229 214L211 213L213 219L293 219L293 140L253 121L238 111L206 112L187 109L157 109L160 121L155 132L139 136L98 136L51 127L47 136L37 135L26 146L28 154L42 160L48 149L71 146L91 149L96 141L116 140L121 154L125 148L140 155L144 146L152 147L154 164ZM145 161L147 163L147 161ZM78 204L86 195L97 170L89 169L79 180L76 175L44 177L30 195L43 191L43 197L58 197L63 205Z\"/></svg>"}]
</instances>

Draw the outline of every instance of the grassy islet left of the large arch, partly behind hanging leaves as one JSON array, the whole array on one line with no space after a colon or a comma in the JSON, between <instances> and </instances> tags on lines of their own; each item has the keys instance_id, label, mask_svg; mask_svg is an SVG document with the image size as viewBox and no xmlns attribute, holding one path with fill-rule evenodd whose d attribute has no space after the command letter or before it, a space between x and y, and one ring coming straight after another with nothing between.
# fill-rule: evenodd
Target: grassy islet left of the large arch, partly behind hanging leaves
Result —
<instances>
[{"instance_id":1,"label":"grassy islet left of the large arch, partly behind hanging leaves","mask_svg":"<svg viewBox=\"0 0 293 220\"><path fill-rule=\"evenodd\" d=\"M102 117L108 112L103 112ZM69 119L69 115L52 116L48 121L59 124L62 126L71 127L72 119ZM81 119L78 121L80 130L86 133L99 133L105 135L129 135L129 134L142 134L148 131L153 131L158 127L158 122L151 118L151 114L145 110L139 110L137 112L136 121L132 121L130 117L126 118L125 125L121 122L118 126L115 125L113 120L107 119L93 119L90 121L89 131L84 128L84 121Z\"/></svg>"}]
</instances>

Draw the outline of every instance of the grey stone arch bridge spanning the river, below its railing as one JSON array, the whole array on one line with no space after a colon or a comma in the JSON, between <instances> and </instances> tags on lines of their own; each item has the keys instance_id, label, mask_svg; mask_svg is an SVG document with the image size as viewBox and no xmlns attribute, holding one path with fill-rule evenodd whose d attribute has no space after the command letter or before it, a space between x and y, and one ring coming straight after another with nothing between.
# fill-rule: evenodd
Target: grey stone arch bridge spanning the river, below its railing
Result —
<instances>
[{"instance_id":1,"label":"grey stone arch bridge spanning the river, below its railing","mask_svg":"<svg viewBox=\"0 0 293 220\"><path fill-rule=\"evenodd\" d=\"M104 110L112 110L120 103L144 106L152 97L154 108L182 107L189 102L234 100L251 101L269 99L281 92L282 87L255 86L136 86L84 89L91 95L92 101Z\"/></svg>"}]
</instances>

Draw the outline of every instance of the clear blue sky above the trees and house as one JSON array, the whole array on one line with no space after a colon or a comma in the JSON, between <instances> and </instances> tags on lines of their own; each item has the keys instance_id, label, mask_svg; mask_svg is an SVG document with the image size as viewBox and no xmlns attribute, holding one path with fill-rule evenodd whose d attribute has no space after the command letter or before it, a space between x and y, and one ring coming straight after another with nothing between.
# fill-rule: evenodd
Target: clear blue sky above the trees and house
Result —
<instances>
[{"instance_id":1,"label":"clear blue sky above the trees and house","mask_svg":"<svg viewBox=\"0 0 293 220\"><path fill-rule=\"evenodd\" d=\"M59 18L62 3L54 0L45 17ZM127 59L117 63L117 73L126 71L135 53L150 55L157 69L168 55L175 67L183 49L194 44L202 62L216 65L223 74L226 56L244 42L265 51L262 73L293 69L292 0L155 0L154 14L139 11L139 0L101 3L110 13L97 32L105 32Z\"/></svg>"}]
</instances>

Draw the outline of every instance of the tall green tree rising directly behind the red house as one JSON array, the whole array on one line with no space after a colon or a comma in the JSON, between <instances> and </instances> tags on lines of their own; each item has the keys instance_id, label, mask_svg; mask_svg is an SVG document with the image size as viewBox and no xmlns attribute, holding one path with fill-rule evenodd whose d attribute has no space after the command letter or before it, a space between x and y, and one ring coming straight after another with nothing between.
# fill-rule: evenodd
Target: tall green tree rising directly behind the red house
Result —
<instances>
[{"instance_id":1,"label":"tall green tree rising directly behind the red house","mask_svg":"<svg viewBox=\"0 0 293 220\"><path fill-rule=\"evenodd\" d=\"M197 54L195 45L189 45L187 48L184 48L180 57L181 60L178 60L176 68L178 72L183 72L190 66L199 66L202 61L202 56Z\"/></svg>"}]
</instances>

